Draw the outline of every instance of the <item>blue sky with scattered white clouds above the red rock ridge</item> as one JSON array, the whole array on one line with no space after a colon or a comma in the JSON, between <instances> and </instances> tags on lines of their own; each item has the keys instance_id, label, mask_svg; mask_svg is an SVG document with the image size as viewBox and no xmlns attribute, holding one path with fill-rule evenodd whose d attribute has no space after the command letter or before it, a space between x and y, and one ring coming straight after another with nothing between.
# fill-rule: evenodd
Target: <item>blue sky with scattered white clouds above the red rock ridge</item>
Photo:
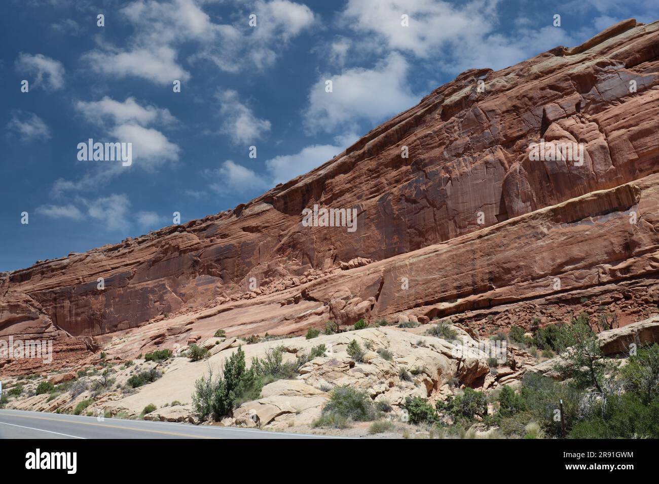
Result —
<instances>
[{"instance_id":1,"label":"blue sky with scattered white clouds above the red rock ridge","mask_svg":"<svg viewBox=\"0 0 659 484\"><path fill-rule=\"evenodd\" d=\"M175 211L185 223L231 209L463 70L577 45L624 18L659 19L656 0L5 0L0 9L0 271L146 234ZM132 165L78 161L88 138L132 142Z\"/></svg>"}]
</instances>

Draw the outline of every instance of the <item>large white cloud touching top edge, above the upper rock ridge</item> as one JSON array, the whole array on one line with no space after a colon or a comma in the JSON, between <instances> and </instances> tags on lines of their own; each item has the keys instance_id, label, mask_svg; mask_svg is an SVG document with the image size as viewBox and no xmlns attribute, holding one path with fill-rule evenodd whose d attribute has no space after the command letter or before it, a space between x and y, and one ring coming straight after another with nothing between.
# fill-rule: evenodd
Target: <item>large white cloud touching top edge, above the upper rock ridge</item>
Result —
<instances>
[{"instance_id":1,"label":"large white cloud touching top edge, above the upper rock ridge","mask_svg":"<svg viewBox=\"0 0 659 484\"><path fill-rule=\"evenodd\" d=\"M422 61L433 59L449 74L470 68L509 67L557 45L579 43L594 32L570 34L554 28L532 28L517 19L510 34L496 32L500 0L449 3L435 0L349 0L341 21L351 28L362 50L410 54ZM409 15L409 26L401 15ZM592 30L592 29L587 29Z\"/></svg>"}]
</instances>

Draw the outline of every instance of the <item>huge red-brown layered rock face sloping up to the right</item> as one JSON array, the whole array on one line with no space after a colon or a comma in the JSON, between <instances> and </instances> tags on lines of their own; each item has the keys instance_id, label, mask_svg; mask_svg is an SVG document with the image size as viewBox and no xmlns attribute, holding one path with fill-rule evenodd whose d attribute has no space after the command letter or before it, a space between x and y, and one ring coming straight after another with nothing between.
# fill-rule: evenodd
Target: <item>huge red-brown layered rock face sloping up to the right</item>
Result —
<instances>
[{"instance_id":1,"label":"huge red-brown layered rock face sloping up to the right","mask_svg":"<svg viewBox=\"0 0 659 484\"><path fill-rule=\"evenodd\" d=\"M126 355L328 319L451 316L482 332L606 306L637 321L659 301L657 119L659 22L469 70L232 211L4 273L0 337L120 338ZM534 161L541 140L583 155ZM307 227L314 205L355 209L356 229Z\"/></svg>"}]
</instances>

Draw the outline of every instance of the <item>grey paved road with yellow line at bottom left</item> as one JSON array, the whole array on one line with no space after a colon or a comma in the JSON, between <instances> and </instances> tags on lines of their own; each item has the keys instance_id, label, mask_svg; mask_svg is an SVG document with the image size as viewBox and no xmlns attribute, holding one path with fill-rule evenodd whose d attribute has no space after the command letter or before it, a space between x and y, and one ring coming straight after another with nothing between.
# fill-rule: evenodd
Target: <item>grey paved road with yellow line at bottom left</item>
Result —
<instances>
[{"instance_id":1,"label":"grey paved road with yellow line at bottom left","mask_svg":"<svg viewBox=\"0 0 659 484\"><path fill-rule=\"evenodd\" d=\"M322 435L0 410L0 439L318 439Z\"/></svg>"}]
</instances>

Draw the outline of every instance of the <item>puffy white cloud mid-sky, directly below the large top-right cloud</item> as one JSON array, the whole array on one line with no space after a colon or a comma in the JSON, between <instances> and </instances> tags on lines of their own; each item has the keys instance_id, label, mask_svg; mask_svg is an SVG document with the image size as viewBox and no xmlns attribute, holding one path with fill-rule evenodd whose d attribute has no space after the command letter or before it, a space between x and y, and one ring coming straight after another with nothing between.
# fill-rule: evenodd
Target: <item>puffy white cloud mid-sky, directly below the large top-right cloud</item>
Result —
<instances>
[{"instance_id":1,"label":"puffy white cloud mid-sky, directly below the large top-right cloud","mask_svg":"<svg viewBox=\"0 0 659 484\"><path fill-rule=\"evenodd\" d=\"M391 53L372 69L350 68L336 76L321 76L309 93L305 124L312 131L332 132L338 126L355 129L355 122L378 122L415 105L420 99L406 84L407 61ZM326 92L326 80L333 92Z\"/></svg>"}]
</instances>

